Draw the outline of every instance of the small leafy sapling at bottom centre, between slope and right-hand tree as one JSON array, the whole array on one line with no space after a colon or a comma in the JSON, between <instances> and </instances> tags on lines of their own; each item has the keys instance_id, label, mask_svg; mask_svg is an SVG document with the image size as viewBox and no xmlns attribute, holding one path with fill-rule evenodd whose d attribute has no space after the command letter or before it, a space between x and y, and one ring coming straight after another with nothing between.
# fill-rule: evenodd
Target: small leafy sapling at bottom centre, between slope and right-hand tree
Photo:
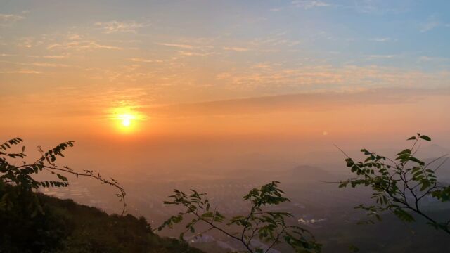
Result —
<instances>
[{"instance_id":1,"label":"small leafy sapling at bottom centre, between slope and right-hand tree","mask_svg":"<svg viewBox=\"0 0 450 253\"><path fill-rule=\"evenodd\" d=\"M286 223L285 219L292 217L292 214L264 210L264 207L290 201L283 197L283 191L278 188L278 183L273 181L259 189L254 188L243 197L243 200L249 201L251 204L250 212L244 216L233 216L226 222L228 227L239 228L235 233L220 226L226 221L226 217L217 209L211 208L207 193L191 190L191 194L186 194L180 190L174 190L175 194L169 196L171 200L164 203L179 205L184 208L184 211L167 219L158 228L158 231L165 227L173 228L174 224L183 221L185 216L191 216L192 220L186 224L186 230L179 236L180 240L184 240L185 233L195 234L195 226L198 223L204 223L208 228L195 236L212 230L219 231L241 242L248 252L269 252L271 248L280 243L287 243L295 249L295 252L320 252L321 245L314 241L314 237L309 231L300 226L290 226ZM265 249L255 247L252 244L252 240L255 238L268 243L269 246Z\"/></svg>"}]
</instances>

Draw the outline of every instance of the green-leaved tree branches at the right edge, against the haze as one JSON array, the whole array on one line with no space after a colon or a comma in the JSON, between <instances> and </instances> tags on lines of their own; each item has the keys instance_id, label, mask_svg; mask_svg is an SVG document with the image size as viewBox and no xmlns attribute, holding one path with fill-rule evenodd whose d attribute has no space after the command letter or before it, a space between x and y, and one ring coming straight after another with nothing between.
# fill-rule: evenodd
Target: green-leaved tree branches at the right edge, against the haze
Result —
<instances>
[{"instance_id":1,"label":"green-leaved tree branches at the right edge, against the haze","mask_svg":"<svg viewBox=\"0 0 450 253\"><path fill-rule=\"evenodd\" d=\"M446 161L447 155L424 162L416 157L418 144L420 141L431 141L431 138L417 134L408 138L408 141L413 141L411 148L401 150L393 160L361 149L366 159L364 162L355 162L341 150L347 157L347 167L356 177L340 181L339 187L370 187L375 204L359 205L356 208L364 209L371 218L381 220L381 213L392 212L402 221L412 222L416 221L412 214L417 214L434 228L450 235L450 220L437 221L426 214L420 205L425 197L432 197L440 202L450 200L450 186L439 182L435 174ZM373 219L368 222L373 223Z\"/></svg>"}]
</instances>

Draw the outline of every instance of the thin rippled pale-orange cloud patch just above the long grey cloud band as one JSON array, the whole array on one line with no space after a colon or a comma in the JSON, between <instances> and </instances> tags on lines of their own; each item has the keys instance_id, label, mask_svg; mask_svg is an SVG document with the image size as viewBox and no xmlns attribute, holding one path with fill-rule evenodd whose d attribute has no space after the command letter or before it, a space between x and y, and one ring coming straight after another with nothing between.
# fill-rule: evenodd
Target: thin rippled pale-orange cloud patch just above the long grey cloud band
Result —
<instances>
[{"instance_id":1,"label":"thin rippled pale-orange cloud patch just above the long grey cloud band","mask_svg":"<svg viewBox=\"0 0 450 253\"><path fill-rule=\"evenodd\" d=\"M292 93L299 91L336 91L356 87L422 87L448 84L449 72L421 72L395 67L311 65L271 66L229 70L216 75L227 89L250 93Z\"/></svg>"}]
</instances>

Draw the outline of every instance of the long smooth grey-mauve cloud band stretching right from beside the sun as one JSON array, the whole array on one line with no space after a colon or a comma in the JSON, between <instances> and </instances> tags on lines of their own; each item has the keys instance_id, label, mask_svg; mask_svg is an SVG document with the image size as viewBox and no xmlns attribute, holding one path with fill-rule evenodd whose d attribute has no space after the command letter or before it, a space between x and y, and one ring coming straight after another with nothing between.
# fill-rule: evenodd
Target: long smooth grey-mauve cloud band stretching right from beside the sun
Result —
<instances>
[{"instance_id":1,"label":"long smooth grey-mauve cloud band stretching right from beside the sun","mask_svg":"<svg viewBox=\"0 0 450 253\"><path fill-rule=\"evenodd\" d=\"M450 96L450 89L363 89L345 92L297 93L165 105L147 108L145 112L155 117L267 114L293 110L335 110L355 105L414 103L425 96Z\"/></svg>"}]
</instances>

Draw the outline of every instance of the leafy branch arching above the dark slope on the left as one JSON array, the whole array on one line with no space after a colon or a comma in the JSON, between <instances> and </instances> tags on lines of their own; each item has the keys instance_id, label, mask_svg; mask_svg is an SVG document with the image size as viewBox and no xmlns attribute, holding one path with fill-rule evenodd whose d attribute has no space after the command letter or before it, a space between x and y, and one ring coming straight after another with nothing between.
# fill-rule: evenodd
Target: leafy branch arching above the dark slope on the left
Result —
<instances>
[{"instance_id":1,"label":"leafy branch arching above the dark slope on the left","mask_svg":"<svg viewBox=\"0 0 450 253\"><path fill-rule=\"evenodd\" d=\"M75 171L67 166L58 167L55 163L58 156L64 157L63 151L74 145L74 141L68 141L60 143L55 148L48 150L44 153L41 147L38 147L41 157L33 163L25 162L25 146L20 149L19 153L13 153L11 148L14 145L19 145L23 143L22 138L13 138L9 141L0 145L0 181L8 185L18 186L18 193L27 194L32 190L37 190L38 188L48 188L48 187L67 187L69 185L68 178L65 176L67 174L72 174L75 176L87 176L102 183L114 186L120 193L117 193L117 197L123 204L122 215L125 213L125 191L119 185L119 183L113 179L106 179L101 176L101 174L94 174L94 171L85 169L84 172ZM16 159L22 159L21 165L15 165ZM56 175L57 179L48 181L37 181L34 179L34 175L46 172L52 175ZM35 196L35 195L31 195ZM11 196L5 194L0 199L0 211L11 208ZM30 200L30 208L33 210L32 216L36 216L39 212L43 213L41 205L37 197L32 197Z\"/></svg>"}]
</instances>

